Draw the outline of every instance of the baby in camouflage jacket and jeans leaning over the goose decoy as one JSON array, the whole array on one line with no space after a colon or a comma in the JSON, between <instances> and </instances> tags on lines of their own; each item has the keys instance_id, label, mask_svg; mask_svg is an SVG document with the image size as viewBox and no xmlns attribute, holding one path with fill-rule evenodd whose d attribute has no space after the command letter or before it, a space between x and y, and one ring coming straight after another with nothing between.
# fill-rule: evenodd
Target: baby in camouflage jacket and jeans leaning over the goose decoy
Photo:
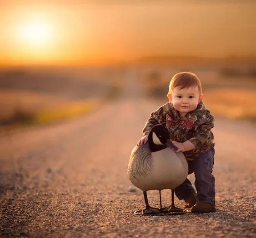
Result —
<instances>
[{"instance_id":1,"label":"baby in camouflage jacket and jeans leaning over the goose decoy","mask_svg":"<svg viewBox=\"0 0 256 238\"><path fill-rule=\"evenodd\" d=\"M192 213L215 212L214 142L211 128L214 117L202 102L199 78L194 73L176 73L171 79L169 102L161 106L146 121L143 137L137 146L147 142L151 128L166 126L170 140L186 157L189 174L194 172L196 191L186 179L175 189L178 199L184 199Z\"/></svg>"}]
</instances>

